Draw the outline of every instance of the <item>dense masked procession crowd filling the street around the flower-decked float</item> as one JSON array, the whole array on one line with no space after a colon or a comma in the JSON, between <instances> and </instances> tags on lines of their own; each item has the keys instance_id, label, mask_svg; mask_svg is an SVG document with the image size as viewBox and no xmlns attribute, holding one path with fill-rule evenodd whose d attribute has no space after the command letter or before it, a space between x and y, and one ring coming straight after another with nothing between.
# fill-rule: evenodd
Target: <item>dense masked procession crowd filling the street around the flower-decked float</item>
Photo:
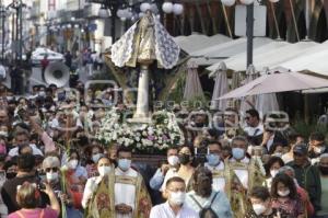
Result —
<instances>
[{"instance_id":1,"label":"dense masked procession crowd filling the street around the flower-decked float","mask_svg":"<svg viewBox=\"0 0 328 218\"><path fill-rule=\"evenodd\" d=\"M236 125L241 117L227 108L222 128L202 128L197 115L198 130L181 126L185 145L168 148L159 165L136 164L131 148L95 138L110 89L78 82L87 92L81 102L57 90L16 97L0 85L1 217L328 217L321 133L272 128L280 119L260 119L256 110Z\"/></svg>"}]
</instances>

